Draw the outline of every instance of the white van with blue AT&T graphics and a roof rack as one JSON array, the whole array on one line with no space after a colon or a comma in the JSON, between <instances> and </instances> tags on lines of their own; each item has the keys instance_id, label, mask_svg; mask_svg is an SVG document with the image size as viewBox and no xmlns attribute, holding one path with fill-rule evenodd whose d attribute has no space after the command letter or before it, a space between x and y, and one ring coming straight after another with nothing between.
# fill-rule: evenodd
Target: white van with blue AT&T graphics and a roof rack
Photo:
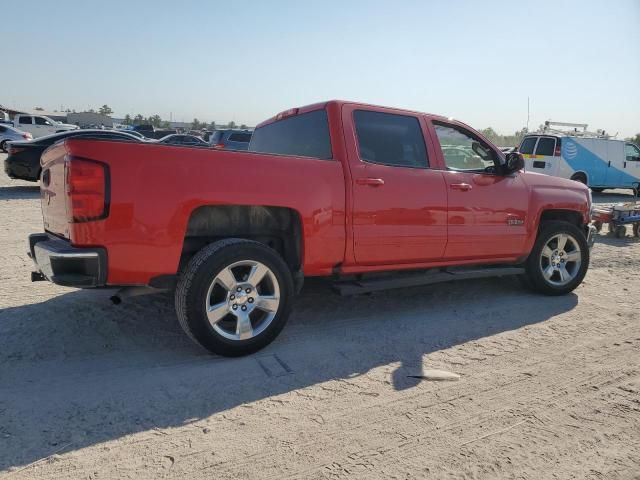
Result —
<instances>
[{"instance_id":1,"label":"white van with blue AT&T graphics and a roof rack","mask_svg":"<svg viewBox=\"0 0 640 480\"><path fill-rule=\"evenodd\" d=\"M552 125L574 130L554 130ZM545 122L541 133L526 135L519 147L525 170L576 180L594 192L631 188L640 195L640 148L586 128L586 124Z\"/></svg>"}]
</instances>

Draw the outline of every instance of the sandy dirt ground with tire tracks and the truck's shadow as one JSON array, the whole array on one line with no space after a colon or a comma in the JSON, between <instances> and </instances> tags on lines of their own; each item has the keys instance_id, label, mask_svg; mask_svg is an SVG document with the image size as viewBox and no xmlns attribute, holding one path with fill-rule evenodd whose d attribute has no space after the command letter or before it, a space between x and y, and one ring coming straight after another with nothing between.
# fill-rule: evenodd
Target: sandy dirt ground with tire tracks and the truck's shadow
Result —
<instances>
[{"instance_id":1,"label":"sandy dirt ground with tire tracks and the truck's shadow","mask_svg":"<svg viewBox=\"0 0 640 480\"><path fill-rule=\"evenodd\" d=\"M640 478L636 238L605 227L564 297L311 282L271 346L225 359L170 296L31 283L39 193L0 175L0 479Z\"/></svg>"}]
</instances>

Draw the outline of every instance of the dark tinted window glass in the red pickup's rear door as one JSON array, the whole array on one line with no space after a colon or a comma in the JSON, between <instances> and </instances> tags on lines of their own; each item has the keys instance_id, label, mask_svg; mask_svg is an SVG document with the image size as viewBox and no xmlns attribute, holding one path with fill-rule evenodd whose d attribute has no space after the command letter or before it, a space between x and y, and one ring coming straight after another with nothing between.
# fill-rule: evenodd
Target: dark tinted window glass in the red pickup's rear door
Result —
<instances>
[{"instance_id":1,"label":"dark tinted window glass in the red pickup's rear door","mask_svg":"<svg viewBox=\"0 0 640 480\"><path fill-rule=\"evenodd\" d=\"M427 150L416 117L356 110L358 151L365 162L426 168Z\"/></svg>"}]
</instances>

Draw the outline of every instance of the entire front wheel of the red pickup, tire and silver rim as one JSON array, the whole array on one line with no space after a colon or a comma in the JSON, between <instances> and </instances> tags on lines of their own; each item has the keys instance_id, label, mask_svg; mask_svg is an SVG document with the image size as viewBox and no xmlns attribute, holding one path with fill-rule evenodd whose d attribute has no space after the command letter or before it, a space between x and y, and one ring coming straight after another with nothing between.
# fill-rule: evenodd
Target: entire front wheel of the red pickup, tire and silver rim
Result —
<instances>
[{"instance_id":1,"label":"entire front wheel of the red pickup, tire and silver rim","mask_svg":"<svg viewBox=\"0 0 640 480\"><path fill-rule=\"evenodd\" d=\"M532 287L546 295L573 291L589 268L589 246L584 233L568 222L544 223L527 259L526 275Z\"/></svg>"}]
</instances>

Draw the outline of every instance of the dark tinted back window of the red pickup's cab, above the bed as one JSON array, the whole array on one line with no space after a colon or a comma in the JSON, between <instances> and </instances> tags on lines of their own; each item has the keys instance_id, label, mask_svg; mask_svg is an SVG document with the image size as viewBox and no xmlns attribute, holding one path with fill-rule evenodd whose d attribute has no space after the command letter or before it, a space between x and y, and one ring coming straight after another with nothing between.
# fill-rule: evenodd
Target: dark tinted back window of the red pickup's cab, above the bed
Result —
<instances>
[{"instance_id":1,"label":"dark tinted back window of the red pickup's cab, above the bed","mask_svg":"<svg viewBox=\"0 0 640 480\"><path fill-rule=\"evenodd\" d=\"M331 158L326 110L315 110L284 118L258 128L251 137L249 151L319 159Z\"/></svg>"}]
</instances>

